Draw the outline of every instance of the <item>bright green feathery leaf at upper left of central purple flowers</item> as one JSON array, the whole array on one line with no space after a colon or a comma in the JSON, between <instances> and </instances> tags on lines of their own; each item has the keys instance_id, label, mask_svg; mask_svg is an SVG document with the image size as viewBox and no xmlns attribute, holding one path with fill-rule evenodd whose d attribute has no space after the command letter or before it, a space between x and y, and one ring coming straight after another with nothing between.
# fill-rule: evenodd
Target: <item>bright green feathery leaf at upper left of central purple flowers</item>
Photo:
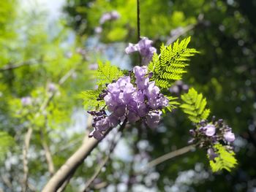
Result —
<instances>
[{"instance_id":1,"label":"bright green feathery leaf at upper left of central purple flowers","mask_svg":"<svg viewBox=\"0 0 256 192\"><path fill-rule=\"evenodd\" d=\"M104 88L106 83L117 80L123 75L123 72L118 69L117 66L111 65L110 62L106 62L105 64L99 62L99 68L97 70L97 85L99 85L99 88Z\"/></svg>"}]
</instances>

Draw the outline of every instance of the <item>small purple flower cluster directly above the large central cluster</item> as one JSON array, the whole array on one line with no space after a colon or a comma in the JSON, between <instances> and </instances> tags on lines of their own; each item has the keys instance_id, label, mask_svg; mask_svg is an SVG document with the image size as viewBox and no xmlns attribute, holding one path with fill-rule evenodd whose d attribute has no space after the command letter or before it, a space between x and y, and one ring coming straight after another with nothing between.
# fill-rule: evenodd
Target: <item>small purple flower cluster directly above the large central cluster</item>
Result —
<instances>
[{"instance_id":1,"label":"small purple flower cluster directly above the large central cluster","mask_svg":"<svg viewBox=\"0 0 256 192\"><path fill-rule=\"evenodd\" d=\"M125 49L127 54L138 51L143 58L143 64L148 65L151 61L154 53L157 53L157 49L152 47L153 41L147 37L143 37L137 44L129 43L129 46Z\"/></svg>"}]
</instances>

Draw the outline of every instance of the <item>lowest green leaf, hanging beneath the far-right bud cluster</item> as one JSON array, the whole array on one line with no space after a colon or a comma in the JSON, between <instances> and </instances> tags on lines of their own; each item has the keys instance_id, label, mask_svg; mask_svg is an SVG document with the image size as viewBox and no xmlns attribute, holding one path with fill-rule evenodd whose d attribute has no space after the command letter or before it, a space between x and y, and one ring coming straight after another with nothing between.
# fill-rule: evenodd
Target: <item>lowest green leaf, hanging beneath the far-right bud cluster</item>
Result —
<instances>
[{"instance_id":1,"label":"lowest green leaf, hanging beneath the far-right bud cluster","mask_svg":"<svg viewBox=\"0 0 256 192\"><path fill-rule=\"evenodd\" d=\"M233 151L228 151L225 146L221 144L214 145L214 149L218 157L210 161L211 170L213 172L218 172L222 169L226 169L230 172L231 169L238 164Z\"/></svg>"}]
</instances>

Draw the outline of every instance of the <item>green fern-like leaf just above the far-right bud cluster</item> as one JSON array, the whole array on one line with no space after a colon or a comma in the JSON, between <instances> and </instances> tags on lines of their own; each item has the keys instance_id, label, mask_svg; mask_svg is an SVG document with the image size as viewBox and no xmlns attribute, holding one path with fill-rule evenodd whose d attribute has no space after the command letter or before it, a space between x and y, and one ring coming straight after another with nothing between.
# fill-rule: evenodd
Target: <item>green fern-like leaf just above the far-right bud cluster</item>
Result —
<instances>
[{"instance_id":1,"label":"green fern-like leaf just above the far-right bud cluster","mask_svg":"<svg viewBox=\"0 0 256 192\"><path fill-rule=\"evenodd\" d=\"M189 116L189 120L199 123L200 120L208 118L210 110L206 109L207 101L202 93L198 94L194 88L190 88L188 93L181 96L181 99L184 103L180 107Z\"/></svg>"}]
</instances>

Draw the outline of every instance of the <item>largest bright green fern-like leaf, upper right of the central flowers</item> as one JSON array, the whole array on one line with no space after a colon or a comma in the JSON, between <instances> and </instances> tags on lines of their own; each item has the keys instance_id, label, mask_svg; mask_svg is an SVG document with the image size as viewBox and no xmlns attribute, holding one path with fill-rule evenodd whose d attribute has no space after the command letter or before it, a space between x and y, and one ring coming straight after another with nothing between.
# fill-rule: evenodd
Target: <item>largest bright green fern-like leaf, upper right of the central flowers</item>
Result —
<instances>
[{"instance_id":1,"label":"largest bright green fern-like leaf, upper right of the central flowers","mask_svg":"<svg viewBox=\"0 0 256 192\"><path fill-rule=\"evenodd\" d=\"M161 88L169 88L175 80L181 80L182 74L186 72L189 57L198 53L197 50L187 48L190 37L173 45L160 47L160 54L154 53L152 61L148 64L148 71L153 72L151 80Z\"/></svg>"}]
</instances>

